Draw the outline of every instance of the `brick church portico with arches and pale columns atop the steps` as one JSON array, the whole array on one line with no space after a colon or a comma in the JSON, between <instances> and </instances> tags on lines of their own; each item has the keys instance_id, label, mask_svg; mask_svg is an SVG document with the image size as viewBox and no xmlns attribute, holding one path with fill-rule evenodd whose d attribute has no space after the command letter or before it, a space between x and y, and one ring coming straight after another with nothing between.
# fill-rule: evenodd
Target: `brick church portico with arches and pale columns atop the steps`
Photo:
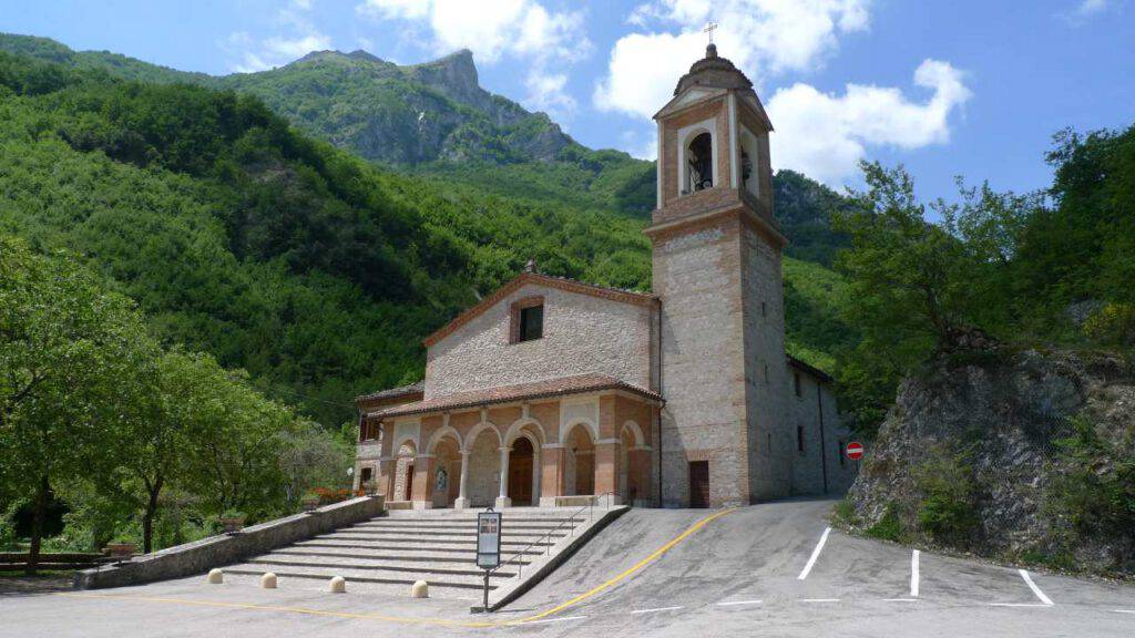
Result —
<instances>
[{"instance_id":1,"label":"brick church portico with arches and pale columns atop the steps","mask_svg":"<svg viewBox=\"0 0 1135 638\"><path fill-rule=\"evenodd\" d=\"M380 492L393 495L395 507L415 510L548 507L596 494L645 503L651 448L638 420L649 430L657 397L611 379L578 383L588 389L558 391L563 396L557 398L436 406L414 402L368 415L368 429L378 431L380 459L386 460L380 463L386 481ZM553 392L548 384L513 389ZM418 440L427 442L421 453ZM400 450L392 454L395 445Z\"/></svg>"}]
</instances>

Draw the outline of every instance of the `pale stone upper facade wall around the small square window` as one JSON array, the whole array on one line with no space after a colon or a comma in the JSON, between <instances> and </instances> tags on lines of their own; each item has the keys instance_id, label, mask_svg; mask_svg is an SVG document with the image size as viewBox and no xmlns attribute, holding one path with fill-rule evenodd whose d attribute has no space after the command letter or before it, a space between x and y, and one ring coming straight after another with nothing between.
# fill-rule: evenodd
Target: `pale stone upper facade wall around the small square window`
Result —
<instances>
[{"instance_id":1,"label":"pale stone upper facade wall around the small square window","mask_svg":"<svg viewBox=\"0 0 1135 638\"><path fill-rule=\"evenodd\" d=\"M543 295L544 336L510 343L513 302ZM530 381L598 373L650 389L646 304L528 284L429 349L426 398Z\"/></svg>"}]
</instances>

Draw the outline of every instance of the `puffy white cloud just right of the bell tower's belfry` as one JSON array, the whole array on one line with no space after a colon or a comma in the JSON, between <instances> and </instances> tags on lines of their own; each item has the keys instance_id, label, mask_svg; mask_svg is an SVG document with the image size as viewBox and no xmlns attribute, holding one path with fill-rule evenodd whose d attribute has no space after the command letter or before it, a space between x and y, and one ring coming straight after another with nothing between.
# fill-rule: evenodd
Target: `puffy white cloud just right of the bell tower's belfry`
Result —
<instances>
[{"instance_id":1,"label":"puffy white cloud just right of the bell tower's belfry","mask_svg":"<svg viewBox=\"0 0 1135 638\"><path fill-rule=\"evenodd\" d=\"M893 87L848 84L843 95L797 83L776 91L767 109L776 133L773 163L838 185L857 171L869 146L902 150L945 143L950 115L969 100L964 74L949 62L926 59L915 84L933 91L911 101Z\"/></svg>"}]
</instances>

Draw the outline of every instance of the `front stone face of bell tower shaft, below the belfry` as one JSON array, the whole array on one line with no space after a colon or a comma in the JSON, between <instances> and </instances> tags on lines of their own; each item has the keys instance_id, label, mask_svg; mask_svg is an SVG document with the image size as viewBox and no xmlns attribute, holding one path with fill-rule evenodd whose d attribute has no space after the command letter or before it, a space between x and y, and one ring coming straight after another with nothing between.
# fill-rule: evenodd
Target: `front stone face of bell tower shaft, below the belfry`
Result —
<instances>
[{"instance_id":1,"label":"front stone face of bell tower shaft, below the belfry","mask_svg":"<svg viewBox=\"0 0 1135 638\"><path fill-rule=\"evenodd\" d=\"M689 462L709 462L711 504L748 502L739 221L655 237L662 305L663 505L689 504ZM745 485L742 485L745 484Z\"/></svg>"}]
</instances>

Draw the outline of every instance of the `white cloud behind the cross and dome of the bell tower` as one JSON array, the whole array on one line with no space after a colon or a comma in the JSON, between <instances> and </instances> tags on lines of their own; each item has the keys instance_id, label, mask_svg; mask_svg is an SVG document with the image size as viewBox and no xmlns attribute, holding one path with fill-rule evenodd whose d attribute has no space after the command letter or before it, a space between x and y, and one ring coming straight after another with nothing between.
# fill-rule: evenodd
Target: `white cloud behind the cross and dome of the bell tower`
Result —
<instances>
[{"instance_id":1,"label":"white cloud behind the cross and dome of the bell tower","mask_svg":"<svg viewBox=\"0 0 1135 638\"><path fill-rule=\"evenodd\" d=\"M646 31L621 37L608 73L596 85L603 110L651 116L678 78L704 54L703 26L716 20L715 42L755 82L818 68L838 35L866 30L871 0L654 0L629 23Z\"/></svg>"}]
</instances>

